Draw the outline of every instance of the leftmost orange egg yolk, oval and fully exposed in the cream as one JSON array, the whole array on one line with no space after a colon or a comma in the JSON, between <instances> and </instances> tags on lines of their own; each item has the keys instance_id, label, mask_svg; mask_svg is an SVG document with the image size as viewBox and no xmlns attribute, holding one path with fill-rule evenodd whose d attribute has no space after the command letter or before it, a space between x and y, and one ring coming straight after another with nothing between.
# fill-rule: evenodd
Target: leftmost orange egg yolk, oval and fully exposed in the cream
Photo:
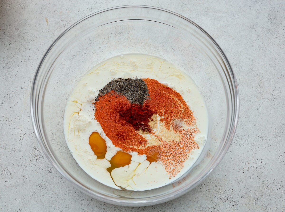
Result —
<instances>
[{"instance_id":1,"label":"leftmost orange egg yolk, oval and fully exposed in the cream","mask_svg":"<svg viewBox=\"0 0 285 212\"><path fill-rule=\"evenodd\" d=\"M98 132L92 132L89 137L89 145L98 159L104 159L107 152L106 141Z\"/></svg>"}]
</instances>

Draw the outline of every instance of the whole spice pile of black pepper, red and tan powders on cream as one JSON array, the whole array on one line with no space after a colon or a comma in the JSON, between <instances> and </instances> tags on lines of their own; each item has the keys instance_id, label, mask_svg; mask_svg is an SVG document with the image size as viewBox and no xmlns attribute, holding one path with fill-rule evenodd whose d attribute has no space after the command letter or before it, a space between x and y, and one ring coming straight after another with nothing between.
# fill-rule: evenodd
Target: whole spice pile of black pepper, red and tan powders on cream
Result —
<instances>
[{"instance_id":1,"label":"whole spice pile of black pepper, red and tan powders on cream","mask_svg":"<svg viewBox=\"0 0 285 212\"><path fill-rule=\"evenodd\" d=\"M199 148L192 111L178 92L155 79L113 79L94 106L95 119L116 147L161 162L170 178Z\"/></svg>"}]
</instances>

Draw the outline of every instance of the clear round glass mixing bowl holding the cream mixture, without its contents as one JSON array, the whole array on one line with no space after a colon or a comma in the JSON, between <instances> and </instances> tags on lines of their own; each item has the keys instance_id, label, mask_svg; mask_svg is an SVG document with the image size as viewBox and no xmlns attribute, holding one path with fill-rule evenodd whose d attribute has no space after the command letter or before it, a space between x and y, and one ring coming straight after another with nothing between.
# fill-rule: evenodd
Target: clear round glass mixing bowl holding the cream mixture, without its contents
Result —
<instances>
[{"instance_id":1,"label":"clear round glass mixing bowl holding the cream mixture, without its contents","mask_svg":"<svg viewBox=\"0 0 285 212\"><path fill-rule=\"evenodd\" d=\"M148 191L117 190L97 182L78 166L64 138L64 108L78 81L99 62L128 53L164 58L185 71L200 89L209 113L206 147L194 168L176 182ZM40 61L30 101L36 137L58 172L91 197L126 206L163 203L200 184L227 152L239 111L235 76L213 38L181 15L148 6L99 11L65 30Z\"/></svg>"}]
</instances>

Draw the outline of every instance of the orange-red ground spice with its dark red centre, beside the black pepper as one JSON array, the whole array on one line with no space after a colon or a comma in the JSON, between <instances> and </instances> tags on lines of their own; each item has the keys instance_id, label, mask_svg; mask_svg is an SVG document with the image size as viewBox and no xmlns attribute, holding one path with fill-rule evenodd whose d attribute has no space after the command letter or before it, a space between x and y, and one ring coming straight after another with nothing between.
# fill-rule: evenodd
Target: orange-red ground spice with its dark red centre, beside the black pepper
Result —
<instances>
[{"instance_id":1,"label":"orange-red ground spice with its dark red centre, beside the black pepper","mask_svg":"<svg viewBox=\"0 0 285 212\"><path fill-rule=\"evenodd\" d=\"M194 141L199 130L192 111L178 92L155 79L145 78L143 81L147 85L149 98L141 108L112 90L100 96L94 103L95 119L116 147L125 152L145 154L148 158L153 158L153 161L157 160L172 178L183 168L190 152L199 148ZM148 121L152 114L157 114L160 123L167 130L179 134L180 139L166 141L151 130ZM177 121L186 127L180 127ZM148 140L139 134L139 130L143 129L156 137L160 144L148 144Z\"/></svg>"}]
</instances>

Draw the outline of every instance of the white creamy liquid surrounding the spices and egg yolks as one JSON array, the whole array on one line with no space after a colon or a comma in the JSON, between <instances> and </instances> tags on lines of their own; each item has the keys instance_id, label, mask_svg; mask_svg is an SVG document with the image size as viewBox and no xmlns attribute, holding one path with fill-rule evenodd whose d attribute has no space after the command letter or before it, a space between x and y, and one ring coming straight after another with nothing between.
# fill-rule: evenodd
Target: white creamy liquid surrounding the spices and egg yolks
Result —
<instances>
[{"instance_id":1,"label":"white creamy liquid surrounding the spices and egg yolks","mask_svg":"<svg viewBox=\"0 0 285 212\"><path fill-rule=\"evenodd\" d=\"M121 150L112 144L100 124L94 119L94 100L109 81L115 78L151 78L179 92L192 110L196 125L200 130L195 136L199 149L192 150L184 167L170 178L164 166L158 162L148 162L145 155L131 154L131 164L109 168L111 158ZM89 145L92 132L99 132L107 144L106 159L97 159ZM126 54L110 58L91 69L76 85L68 98L64 113L64 134L70 152L79 166L95 180L116 188L129 190L154 189L180 178L198 159L208 133L207 109L193 80L173 64L154 56ZM115 183L114 183L115 182Z\"/></svg>"}]
</instances>

